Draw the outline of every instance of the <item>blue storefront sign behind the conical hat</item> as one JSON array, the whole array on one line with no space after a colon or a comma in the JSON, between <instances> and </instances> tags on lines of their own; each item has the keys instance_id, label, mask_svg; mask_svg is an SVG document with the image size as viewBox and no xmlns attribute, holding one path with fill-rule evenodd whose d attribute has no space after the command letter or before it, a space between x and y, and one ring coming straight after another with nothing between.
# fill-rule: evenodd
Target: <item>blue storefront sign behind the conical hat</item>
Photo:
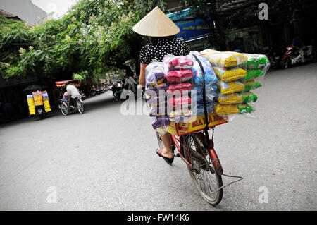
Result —
<instances>
[{"instance_id":1,"label":"blue storefront sign behind the conical hat","mask_svg":"<svg viewBox=\"0 0 317 225\"><path fill-rule=\"evenodd\" d=\"M204 20L192 16L191 9L170 13L167 16L180 28L177 36L182 37L185 41L199 39L211 33Z\"/></svg>"}]
</instances>

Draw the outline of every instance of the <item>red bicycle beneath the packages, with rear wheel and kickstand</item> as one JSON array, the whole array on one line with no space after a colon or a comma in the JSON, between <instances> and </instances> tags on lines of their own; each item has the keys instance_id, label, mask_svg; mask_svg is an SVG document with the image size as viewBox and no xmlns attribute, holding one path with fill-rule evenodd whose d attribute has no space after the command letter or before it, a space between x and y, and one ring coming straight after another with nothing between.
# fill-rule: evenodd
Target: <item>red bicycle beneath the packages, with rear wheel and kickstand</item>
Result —
<instances>
[{"instance_id":1,"label":"red bicycle beneath the packages, with rear wheel and kickstand","mask_svg":"<svg viewBox=\"0 0 317 225\"><path fill-rule=\"evenodd\" d=\"M214 126L211 127L214 133ZM199 195L211 205L217 205L223 199L223 188L232 183L241 181L241 176L231 176L223 174L223 167L213 148L212 138L206 138L203 131L188 133L180 137L170 134L173 152L178 153L175 157L180 157L186 164L189 175L192 178ZM161 136L156 132L159 147L164 147ZM209 140L208 140L209 139ZM238 178L223 186L222 176Z\"/></svg>"}]
</instances>

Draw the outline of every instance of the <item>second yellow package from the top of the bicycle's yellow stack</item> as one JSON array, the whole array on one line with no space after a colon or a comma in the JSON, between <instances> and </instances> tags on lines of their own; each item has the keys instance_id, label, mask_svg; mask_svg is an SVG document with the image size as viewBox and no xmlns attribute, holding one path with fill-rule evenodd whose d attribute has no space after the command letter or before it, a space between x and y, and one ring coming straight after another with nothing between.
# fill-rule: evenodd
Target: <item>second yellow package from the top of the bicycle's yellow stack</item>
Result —
<instances>
[{"instance_id":1,"label":"second yellow package from the top of the bicycle's yellow stack","mask_svg":"<svg viewBox=\"0 0 317 225\"><path fill-rule=\"evenodd\" d=\"M223 80L225 82L238 80L240 78L244 78L247 75L247 71L242 68L227 69L215 66L213 67L213 71L215 71L217 77L220 80Z\"/></svg>"}]
</instances>

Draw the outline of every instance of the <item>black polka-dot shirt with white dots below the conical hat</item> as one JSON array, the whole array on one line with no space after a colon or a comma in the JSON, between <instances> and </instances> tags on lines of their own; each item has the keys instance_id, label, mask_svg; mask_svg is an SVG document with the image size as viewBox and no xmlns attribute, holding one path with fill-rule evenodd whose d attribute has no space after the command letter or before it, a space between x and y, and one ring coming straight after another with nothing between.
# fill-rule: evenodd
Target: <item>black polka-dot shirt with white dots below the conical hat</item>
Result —
<instances>
[{"instance_id":1,"label":"black polka-dot shirt with white dots below the conical hat","mask_svg":"<svg viewBox=\"0 0 317 225\"><path fill-rule=\"evenodd\" d=\"M185 56L189 54L190 48L182 37L175 35L168 37L153 37L152 42L142 47L139 53L140 63L149 64L153 59L162 61L167 54L174 56Z\"/></svg>"}]
</instances>

